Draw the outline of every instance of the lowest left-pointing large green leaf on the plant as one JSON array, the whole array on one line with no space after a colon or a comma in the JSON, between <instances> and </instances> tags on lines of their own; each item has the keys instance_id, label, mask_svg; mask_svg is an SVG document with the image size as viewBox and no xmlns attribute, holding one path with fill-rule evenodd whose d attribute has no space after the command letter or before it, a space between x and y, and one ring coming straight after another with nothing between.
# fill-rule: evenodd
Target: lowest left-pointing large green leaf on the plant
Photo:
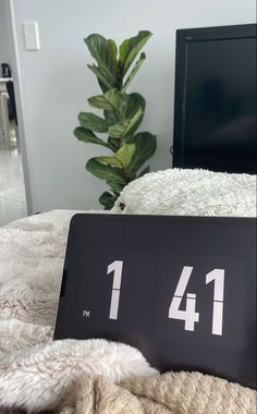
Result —
<instances>
[{"instance_id":1,"label":"lowest left-pointing large green leaf on the plant","mask_svg":"<svg viewBox=\"0 0 257 414\"><path fill-rule=\"evenodd\" d=\"M100 180L117 180L119 183L125 184L122 170L110 166L103 166L103 163L99 162L97 158L90 158L86 163L86 169Z\"/></svg>"}]
</instances>

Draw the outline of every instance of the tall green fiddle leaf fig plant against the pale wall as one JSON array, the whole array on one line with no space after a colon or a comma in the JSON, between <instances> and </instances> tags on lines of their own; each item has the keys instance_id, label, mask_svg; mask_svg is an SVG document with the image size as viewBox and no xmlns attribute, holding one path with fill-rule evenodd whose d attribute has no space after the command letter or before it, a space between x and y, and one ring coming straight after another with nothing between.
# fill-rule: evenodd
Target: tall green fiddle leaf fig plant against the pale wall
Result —
<instances>
[{"instance_id":1,"label":"tall green fiddle leaf fig plant against the pale wall","mask_svg":"<svg viewBox=\"0 0 257 414\"><path fill-rule=\"evenodd\" d=\"M110 155L90 158L86 163L87 171L105 180L109 186L109 191L99 197L105 209L113 207L126 184L149 171L149 167L143 169L143 166L156 151L155 135L136 133L144 118L145 99L137 93L127 94L146 59L140 50L150 36L150 32L142 31L137 36L125 39L119 50L114 40L101 35L93 34L84 39L97 63L88 64L88 68L101 89L100 95L87 101L93 108L102 110L102 115L81 112L79 126L74 130L74 135L84 143L101 145L110 151Z\"/></svg>"}]
</instances>

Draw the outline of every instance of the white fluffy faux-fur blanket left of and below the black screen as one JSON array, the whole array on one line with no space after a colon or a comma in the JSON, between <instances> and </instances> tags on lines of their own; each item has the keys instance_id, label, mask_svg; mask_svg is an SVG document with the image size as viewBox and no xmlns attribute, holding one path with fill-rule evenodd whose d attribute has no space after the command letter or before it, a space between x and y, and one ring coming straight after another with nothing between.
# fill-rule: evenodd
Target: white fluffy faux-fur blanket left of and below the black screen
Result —
<instances>
[{"instance_id":1,"label":"white fluffy faux-fur blanket left of and below the black screen","mask_svg":"<svg viewBox=\"0 0 257 414\"><path fill-rule=\"evenodd\" d=\"M125 344L52 342L74 214L56 210L0 229L0 407L49 409L85 374L119 381L156 373L139 351Z\"/></svg>"}]
</instances>

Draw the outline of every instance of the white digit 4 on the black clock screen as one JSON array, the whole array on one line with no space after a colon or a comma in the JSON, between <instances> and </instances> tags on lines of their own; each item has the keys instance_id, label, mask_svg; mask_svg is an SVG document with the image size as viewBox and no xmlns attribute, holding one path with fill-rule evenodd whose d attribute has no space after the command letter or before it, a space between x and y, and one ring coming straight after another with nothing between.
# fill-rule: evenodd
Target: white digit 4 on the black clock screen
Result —
<instances>
[{"instance_id":1,"label":"white digit 4 on the black clock screen","mask_svg":"<svg viewBox=\"0 0 257 414\"><path fill-rule=\"evenodd\" d=\"M185 310L180 310L182 297L185 293L186 285L191 278L192 270L193 270L193 267L189 267L189 266L183 267L179 283L175 289L174 296L172 297L170 308L169 308L169 318L184 320L185 330L195 330L195 322L199 321L199 314L198 312L195 312L195 305L196 305L195 293L186 294Z\"/></svg>"}]
</instances>

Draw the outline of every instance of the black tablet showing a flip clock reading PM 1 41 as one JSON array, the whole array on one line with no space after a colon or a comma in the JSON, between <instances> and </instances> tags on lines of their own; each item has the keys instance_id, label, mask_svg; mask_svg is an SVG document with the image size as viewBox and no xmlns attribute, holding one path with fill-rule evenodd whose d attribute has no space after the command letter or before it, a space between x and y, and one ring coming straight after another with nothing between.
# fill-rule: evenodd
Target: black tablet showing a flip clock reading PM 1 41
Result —
<instances>
[{"instance_id":1,"label":"black tablet showing a flip clock reading PM 1 41","mask_svg":"<svg viewBox=\"0 0 257 414\"><path fill-rule=\"evenodd\" d=\"M255 219L74 216L54 338L256 388Z\"/></svg>"}]
</instances>

